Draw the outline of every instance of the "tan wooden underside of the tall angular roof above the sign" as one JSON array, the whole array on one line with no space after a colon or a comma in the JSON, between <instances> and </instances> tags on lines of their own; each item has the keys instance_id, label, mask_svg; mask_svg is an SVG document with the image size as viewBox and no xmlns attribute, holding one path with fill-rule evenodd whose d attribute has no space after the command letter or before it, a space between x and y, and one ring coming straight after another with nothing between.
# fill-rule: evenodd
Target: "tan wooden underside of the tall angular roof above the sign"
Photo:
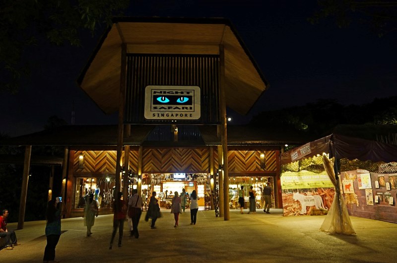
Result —
<instances>
[{"instance_id":1,"label":"tan wooden underside of the tall angular roof above the sign","mask_svg":"<svg viewBox=\"0 0 397 263\"><path fill-rule=\"evenodd\" d=\"M227 107L245 115L267 87L259 67L227 19L116 18L78 84L107 114L119 110L121 47L131 54L219 55L224 46ZM244 101L244 103L241 103Z\"/></svg>"}]
</instances>

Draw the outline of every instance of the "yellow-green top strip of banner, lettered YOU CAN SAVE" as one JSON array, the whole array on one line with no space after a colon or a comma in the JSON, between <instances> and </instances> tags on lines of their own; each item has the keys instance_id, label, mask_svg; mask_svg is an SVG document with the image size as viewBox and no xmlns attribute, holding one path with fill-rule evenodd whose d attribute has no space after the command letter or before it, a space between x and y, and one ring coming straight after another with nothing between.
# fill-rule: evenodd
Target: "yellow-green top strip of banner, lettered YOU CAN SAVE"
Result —
<instances>
[{"instance_id":1,"label":"yellow-green top strip of banner, lettered YOU CAN SAVE","mask_svg":"<svg viewBox=\"0 0 397 263\"><path fill-rule=\"evenodd\" d=\"M282 190L329 187L333 187L333 185L325 172L321 174L309 171L285 172L281 175Z\"/></svg>"}]
</instances>

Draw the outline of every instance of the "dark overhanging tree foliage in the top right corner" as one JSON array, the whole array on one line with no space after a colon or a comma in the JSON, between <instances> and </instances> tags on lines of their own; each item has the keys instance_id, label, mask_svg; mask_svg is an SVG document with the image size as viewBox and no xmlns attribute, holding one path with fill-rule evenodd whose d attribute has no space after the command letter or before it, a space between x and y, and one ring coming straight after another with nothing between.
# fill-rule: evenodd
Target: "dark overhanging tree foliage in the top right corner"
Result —
<instances>
[{"instance_id":1,"label":"dark overhanging tree foliage in the top right corner","mask_svg":"<svg viewBox=\"0 0 397 263\"><path fill-rule=\"evenodd\" d=\"M318 0L319 9L308 20L315 24L333 18L339 27L365 24L382 37L397 30L396 0Z\"/></svg>"}]
</instances>

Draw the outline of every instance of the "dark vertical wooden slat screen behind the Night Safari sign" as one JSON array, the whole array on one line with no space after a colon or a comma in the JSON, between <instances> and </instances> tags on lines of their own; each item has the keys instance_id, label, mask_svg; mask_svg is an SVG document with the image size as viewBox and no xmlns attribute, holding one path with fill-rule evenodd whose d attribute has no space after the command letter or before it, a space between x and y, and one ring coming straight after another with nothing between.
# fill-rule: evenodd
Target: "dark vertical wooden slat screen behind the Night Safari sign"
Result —
<instances>
[{"instance_id":1,"label":"dark vertical wooden slat screen behind the Night Safari sign","mask_svg":"<svg viewBox=\"0 0 397 263\"><path fill-rule=\"evenodd\" d=\"M171 120L146 120L144 91L148 85L199 86L201 118L179 124L218 124L217 55L127 55L126 124L175 124Z\"/></svg>"}]
</instances>

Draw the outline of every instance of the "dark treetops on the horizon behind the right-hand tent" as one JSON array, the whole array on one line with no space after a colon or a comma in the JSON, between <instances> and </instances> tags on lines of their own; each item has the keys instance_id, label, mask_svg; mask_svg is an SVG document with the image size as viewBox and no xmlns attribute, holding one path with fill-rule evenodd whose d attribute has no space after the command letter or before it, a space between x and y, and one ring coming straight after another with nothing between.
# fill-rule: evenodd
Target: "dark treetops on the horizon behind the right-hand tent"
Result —
<instances>
[{"instance_id":1,"label":"dark treetops on the horizon behind the right-hand tent","mask_svg":"<svg viewBox=\"0 0 397 263\"><path fill-rule=\"evenodd\" d=\"M328 134L338 124L397 125L397 96L348 106L336 100L318 100L305 106L262 112L254 116L250 124L310 132L315 137Z\"/></svg>"}]
</instances>

